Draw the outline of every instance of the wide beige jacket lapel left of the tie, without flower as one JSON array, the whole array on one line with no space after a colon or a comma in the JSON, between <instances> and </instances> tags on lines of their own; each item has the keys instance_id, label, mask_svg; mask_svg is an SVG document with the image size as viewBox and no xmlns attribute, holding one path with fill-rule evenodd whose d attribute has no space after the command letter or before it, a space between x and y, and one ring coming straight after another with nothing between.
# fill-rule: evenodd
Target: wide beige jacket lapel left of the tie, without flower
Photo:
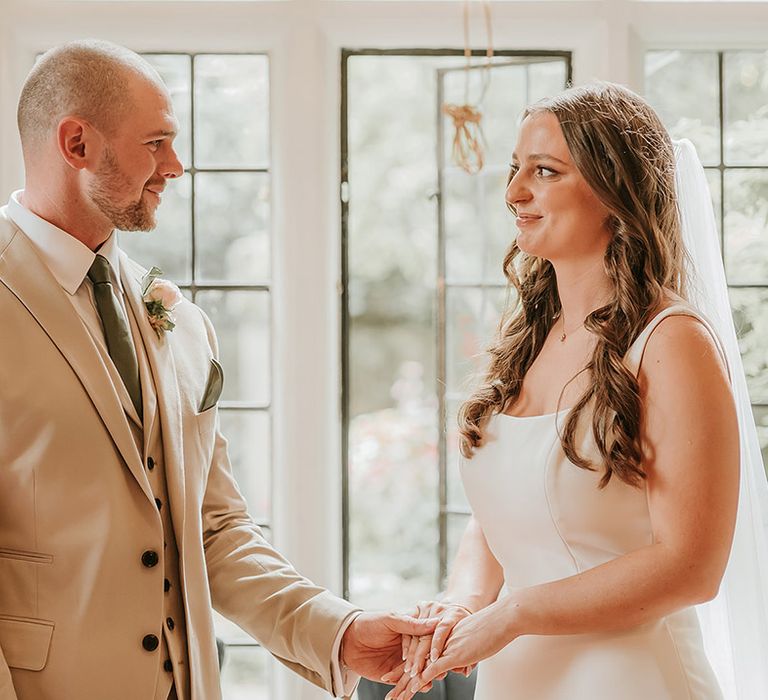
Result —
<instances>
[{"instance_id":1,"label":"wide beige jacket lapel left of the tie, without flower","mask_svg":"<svg viewBox=\"0 0 768 700\"><path fill-rule=\"evenodd\" d=\"M123 460L152 500L141 455L109 371L66 292L40 260L31 241L15 226L0 228L0 250L0 280L34 316L72 367Z\"/></svg>"}]
</instances>

